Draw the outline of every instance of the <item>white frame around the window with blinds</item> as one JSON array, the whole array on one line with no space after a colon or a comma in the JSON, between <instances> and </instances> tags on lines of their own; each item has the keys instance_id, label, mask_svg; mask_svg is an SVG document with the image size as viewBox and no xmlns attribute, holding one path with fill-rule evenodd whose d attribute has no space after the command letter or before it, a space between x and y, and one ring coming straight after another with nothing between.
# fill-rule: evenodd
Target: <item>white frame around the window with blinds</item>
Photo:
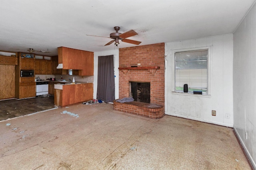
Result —
<instances>
[{"instance_id":1,"label":"white frame around the window with blinds","mask_svg":"<svg viewBox=\"0 0 256 170\"><path fill-rule=\"evenodd\" d=\"M208 58L207 58L207 93L203 93L201 96L210 96L211 94L211 72L212 72L212 51L211 46L208 47L196 47L196 48L188 48L188 49L174 49L171 52L172 55L172 93L175 94L193 94L192 92L184 93L181 91L176 91L176 66L175 66L175 53L179 52L188 52L188 51L198 51L198 50L208 50Z\"/></svg>"}]
</instances>

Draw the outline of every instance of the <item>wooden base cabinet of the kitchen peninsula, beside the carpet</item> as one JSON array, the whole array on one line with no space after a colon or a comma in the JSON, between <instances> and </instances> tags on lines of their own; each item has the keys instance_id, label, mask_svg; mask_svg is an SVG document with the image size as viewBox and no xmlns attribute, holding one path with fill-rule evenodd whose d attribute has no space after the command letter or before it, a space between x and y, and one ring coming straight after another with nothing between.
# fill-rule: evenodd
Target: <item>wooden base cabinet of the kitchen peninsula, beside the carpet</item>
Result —
<instances>
[{"instance_id":1,"label":"wooden base cabinet of the kitchen peninsula, beside the carpet","mask_svg":"<svg viewBox=\"0 0 256 170\"><path fill-rule=\"evenodd\" d=\"M93 99L93 84L61 85L62 90L54 89L54 105L67 106Z\"/></svg>"}]
</instances>

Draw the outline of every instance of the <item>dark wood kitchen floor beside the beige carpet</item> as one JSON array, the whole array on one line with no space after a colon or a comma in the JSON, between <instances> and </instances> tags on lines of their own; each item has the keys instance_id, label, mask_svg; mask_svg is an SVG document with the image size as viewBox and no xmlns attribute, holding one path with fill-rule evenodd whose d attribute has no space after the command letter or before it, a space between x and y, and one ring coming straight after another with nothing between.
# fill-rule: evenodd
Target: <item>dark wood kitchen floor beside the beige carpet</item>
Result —
<instances>
[{"instance_id":1,"label":"dark wood kitchen floor beside the beige carpet","mask_svg":"<svg viewBox=\"0 0 256 170\"><path fill-rule=\"evenodd\" d=\"M54 97L0 101L0 121L54 108Z\"/></svg>"}]
</instances>

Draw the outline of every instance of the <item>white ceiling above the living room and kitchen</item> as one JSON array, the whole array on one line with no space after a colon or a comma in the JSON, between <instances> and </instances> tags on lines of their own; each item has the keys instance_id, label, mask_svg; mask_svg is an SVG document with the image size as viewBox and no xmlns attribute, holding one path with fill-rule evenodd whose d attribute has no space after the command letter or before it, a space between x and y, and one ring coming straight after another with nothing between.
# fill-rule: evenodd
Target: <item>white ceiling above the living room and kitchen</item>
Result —
<instances>
[{"instance_id":1,"label":"white ceiling above the living room and kitchen","mask_svg":"<svg viewBox=\"0 0 256 170\"><path fill-rule=\"evenodd\" d=\"M140 45L233 33L255 0L0 0L0 50L115 49L114 26ZM91 37L99 35L104 37ZM118 48L132 47L120 42Z\"/></svg>"}]
</instances>

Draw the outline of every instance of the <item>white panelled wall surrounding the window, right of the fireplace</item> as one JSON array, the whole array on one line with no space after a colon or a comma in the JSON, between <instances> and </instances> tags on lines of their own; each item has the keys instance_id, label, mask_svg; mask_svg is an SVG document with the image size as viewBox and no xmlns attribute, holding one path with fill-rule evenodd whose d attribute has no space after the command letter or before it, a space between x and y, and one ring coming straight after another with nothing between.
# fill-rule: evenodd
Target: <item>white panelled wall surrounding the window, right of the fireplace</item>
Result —
<instances>
[{"instance_id":1,"label":"white panelled wall surrounding the window, right of the fireplace","mask_svg":"<svg viewBox=\"0 0 256 170\"><path fill-rule=\"evenodd\" d=\"M172 92L172 51L206 47L211 51L210 96ZM233 34L166 43L165 55L165 114L233 127ZM212 110L216 116L212 116Z\"/></svg>"}]
</instances>

